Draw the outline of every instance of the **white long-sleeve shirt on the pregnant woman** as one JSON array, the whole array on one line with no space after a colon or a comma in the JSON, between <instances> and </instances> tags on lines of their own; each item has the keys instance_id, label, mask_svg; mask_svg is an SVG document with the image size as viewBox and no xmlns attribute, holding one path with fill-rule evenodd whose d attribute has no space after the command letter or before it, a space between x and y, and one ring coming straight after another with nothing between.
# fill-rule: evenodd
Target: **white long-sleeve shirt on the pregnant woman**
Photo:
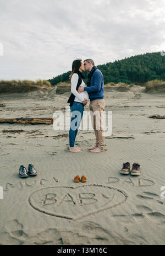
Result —
<instances>
[{"instance_id":1,"label":"white long-sleeve shirt on the pregnant woman","mask_svg":"<svg viewBox=\"0 0 165 256\"><path fill-rule=\"evenodd\" d=\"M76 90L76 86L78 84L78 80L79 80L79 75L74 73L72 75L71 80L70 80L70 82L71 82L71 92L75 95L74 101L82 103L85 98L87 100L89 100L89 94L87 92L85 92L85 91L82 92L82 93L78 93L78 91ZM86 87L83 79L82 79L82 82L81 82L80 86Z\"/></svg>"}]
</instances>

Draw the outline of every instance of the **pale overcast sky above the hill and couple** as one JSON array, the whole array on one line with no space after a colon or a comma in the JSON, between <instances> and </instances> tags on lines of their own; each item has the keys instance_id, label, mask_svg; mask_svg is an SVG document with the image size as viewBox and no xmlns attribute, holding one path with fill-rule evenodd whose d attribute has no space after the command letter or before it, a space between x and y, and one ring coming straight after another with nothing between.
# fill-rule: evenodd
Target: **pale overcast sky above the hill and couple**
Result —
<instances>
[{"instance_id":1,"label":"pale overcast sky above the hill and couple","mask_svg":"<svg viewBox=\"0 0 165 256\"><path fill-rule=\"evenodd\" d=\"M165 50L165 1L0 0L0 30L0 80L50 79L75 58Z\"/></svg>"}]
</instances>

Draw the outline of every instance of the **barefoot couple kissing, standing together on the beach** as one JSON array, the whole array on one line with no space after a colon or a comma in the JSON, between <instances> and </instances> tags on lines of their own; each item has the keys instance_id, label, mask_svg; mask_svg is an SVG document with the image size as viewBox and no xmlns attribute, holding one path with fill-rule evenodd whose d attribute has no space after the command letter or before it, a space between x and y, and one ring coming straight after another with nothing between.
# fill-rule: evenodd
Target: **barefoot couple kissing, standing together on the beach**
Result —
<instances>
[{"instance_id":1,"label":"barefoot couple kissing, standing together on the beach","mask_svg":"<svg viewBox=\"0 0 165 256\"><path fill-rule=\"evenodd\" d=\"M86 84L82 74L83 71L89 72ZM81 59L76 59L72 63L72 73L69 78L71 82L71 95L68 99L68 103L70 103L70 110L72 112L69 130L69 151L83 152L81 148L75 146L75 138L83 118L84 106L87 104L87 101L90 100L89 109L90 113L92 113L92 128L95 131L96 143L93 147L88 149L90 152L102 152L105 147L102 111L105 111L106 105L104 99L103 74L95 66L91 58L84 60L84 62ZM97 115L95 113L97 113Z\"/></svg>"}]
</instances>

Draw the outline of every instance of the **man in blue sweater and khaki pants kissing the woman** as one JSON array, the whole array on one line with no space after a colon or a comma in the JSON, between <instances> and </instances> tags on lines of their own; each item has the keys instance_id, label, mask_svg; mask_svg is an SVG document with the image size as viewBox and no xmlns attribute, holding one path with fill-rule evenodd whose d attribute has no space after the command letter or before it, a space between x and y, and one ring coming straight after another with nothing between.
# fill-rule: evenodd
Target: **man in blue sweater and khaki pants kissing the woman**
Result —
<instances>
[{"instance_id":1,"label":"man in blue sweater and khaki pants kissing the woman","mask_svg":"<svg viewBox=\"0 0 165 256\"><path fill-rule=\"evenodd\" d=\"M96 136L96 145L88 149L90 152L102 152L105 146L105 131L103 129L102 116L106 105L103 74L97 69L91 58L85 60L84 65L85 71L89 71L87 87L80 86L78 92L81 93L85 90L89 93L90 111L92 111L92 116L94 117L93 127Z\"/></svg>"}]
</instances>

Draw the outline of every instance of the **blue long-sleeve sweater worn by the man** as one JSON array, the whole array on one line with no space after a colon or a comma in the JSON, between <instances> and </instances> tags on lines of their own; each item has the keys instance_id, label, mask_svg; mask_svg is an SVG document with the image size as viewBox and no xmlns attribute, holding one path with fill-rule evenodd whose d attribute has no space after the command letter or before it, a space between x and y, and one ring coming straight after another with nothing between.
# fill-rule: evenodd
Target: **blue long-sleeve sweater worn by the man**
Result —
<instances>
[{"instance_id":1,"label":"blue long-sleeve sweater worn by the man","mask_svg":"<svg viewBox=\"0 0 165 256\"><path fill-rule=\"evenodd\" d=\"M90 101L104 98L104 80L100 70L95 70L91 77L90 86L84 87L84 90L89 93Z\"/></svg>"}]
</instances>

